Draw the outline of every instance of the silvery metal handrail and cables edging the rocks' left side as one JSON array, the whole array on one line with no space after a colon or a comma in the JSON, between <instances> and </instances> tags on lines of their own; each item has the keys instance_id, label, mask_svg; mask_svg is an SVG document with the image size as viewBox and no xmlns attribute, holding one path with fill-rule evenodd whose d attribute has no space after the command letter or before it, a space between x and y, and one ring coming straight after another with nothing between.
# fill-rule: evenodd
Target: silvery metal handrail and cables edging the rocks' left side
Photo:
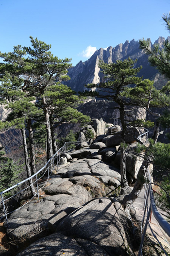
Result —
<instances>
[{"instance_id":1,"label":"silvery metal handrail and cables edging the rocks' left side","mask_svg":"<svg viewBox=\"0 0 170 256\"><path fill-rule=\"evenodd\" d=\"M8 197L8 198L6 198L6 199L3 198L3 194L9 192L10 190L16 188L16 187L19 186L19 185L22 185L24 182L26 182L26 181L28 181L28 180L33 179L34 177L36 177L35 181L34 181L32 184L35 184L35 187L36 187L36 189L37 189L37 192L36 192L35 195L29 200L29 202L30 202L35 196L38 196L38 202L39 202L39 190L42 189L42 188L46 185L46 183L49 181L49 177L51 176L51 173L52 173L52 170L51 170L51 173L50 173L49 169L51 169L51 168L49 168L49 167L53 167L53 168L54 168L54 160L57 158L56 165L57 165L57 170L58 170L58 166L60 165L60 154L66 152L66 151L68 150L68 145L69 145L69 144L75 145L75 144L77 144L77 143L80 143L80 141L65 142L64 146L61 147L59 150L57 150L57 152L48 160L48 162L47 162L39 171L37 171L34 175L32 175L32 176L30 176L30 177L28 177L28 178L26 178L26 179L24 179L24 180L18 182L17 184L15 184L14 186L12 186L12 187L10 187L10 188L8 188L8 189L5 189L5 190L3 190L2 192L0 192L0 197L1 197L1 202L0 202L0 204L2 203L2 205L3 205L3 210L4 210L4 213L5 213L4 216L0 217L0 219L3 218L3 217L5 217L5 218L6 218L6 221L7 221L7 223L8 223L7 215L9 215L9 214L11 214L11 213L13 213L13 212L15 212L15 211L21 209L24 205L26 205L26 204L28 203L28 202L25 203L24 205L22 205L21 207L17 208L16 210L14 210L14 211L12 211L12 212L10 212L10 213L7 213L6 208L5 208L5 204L4 204L4 202L5 202L6 200L9 200L9 199L11 199L12 197L17 196L19 193L25 191L25 190L28 189L30 186L28 186L28 187L26 187L26 188L20 190L20 191L17 192L15 195L13 195L13 196L11 196L11 197ZM58 159L58 157L59 157L59 159ZM37 178L37 175L38 175L40 172L42 172L43 170L44 170L43 175L42 175L41 177ZM45 184L44 184L41 188L38 188L38 180L41 179L42 177L44 177L44 175L45 175L45 173L46 173L47 171L48 171L48 177L47 177L47 180L46 180Z\"/></svg>"}]
</instances>

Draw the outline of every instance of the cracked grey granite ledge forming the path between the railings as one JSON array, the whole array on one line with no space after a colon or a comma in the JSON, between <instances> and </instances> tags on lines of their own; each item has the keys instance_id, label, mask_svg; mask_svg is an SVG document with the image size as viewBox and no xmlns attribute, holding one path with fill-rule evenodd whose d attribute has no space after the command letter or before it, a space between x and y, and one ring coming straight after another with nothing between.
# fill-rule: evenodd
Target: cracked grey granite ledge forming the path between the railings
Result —
<instances>
[{"instance_id":1,"label":"cracked grey granite ledge forming the path between the railings","mask_svg":"<svg viewBox=\"0 0 170 256\"><path fill-rule=\"evenodd\" d=\"M81 142L77 150L63 154L64 164L54 171L40 202L11 214L6 232L18 256L134 255L133 230L115 198L121 180L119 146L112 142L106 147L106 137L98 136L90 147ZM127 157L135 146L129 146ZM140 166L131 164L134 174L129 177L134 179ZM25 244L30 246L23 250Z\"/></svg>"}]
</instances>

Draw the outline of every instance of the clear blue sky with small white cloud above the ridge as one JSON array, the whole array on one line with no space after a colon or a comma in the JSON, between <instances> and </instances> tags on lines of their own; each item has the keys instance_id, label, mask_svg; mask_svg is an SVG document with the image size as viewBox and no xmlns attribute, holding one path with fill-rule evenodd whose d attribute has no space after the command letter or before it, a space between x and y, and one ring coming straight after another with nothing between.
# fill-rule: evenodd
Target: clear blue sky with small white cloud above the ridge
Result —
<instances>
[{"instance_id":1,"label":"clear blue sky with small white cloud above the ridge","mask_svg":"<svg viewBox=\"0 0 170 256\"><path fill-rule=\"evenodd\" d=\"M161 17L169 12L170 0L0 0L0 51L29 46L33 36L76 65L101 47L167 38Z\"/></svg>"}]
</instances>

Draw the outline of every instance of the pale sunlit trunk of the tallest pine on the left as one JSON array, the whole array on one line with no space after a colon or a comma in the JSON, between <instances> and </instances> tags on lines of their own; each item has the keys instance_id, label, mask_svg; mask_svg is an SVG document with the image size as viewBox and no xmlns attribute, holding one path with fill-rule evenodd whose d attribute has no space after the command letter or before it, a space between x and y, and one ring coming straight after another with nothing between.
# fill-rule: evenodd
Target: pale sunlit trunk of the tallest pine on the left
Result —
<instances>
[{"instance_id":1,"label":"pale sunlit trunk of the tallest pine on the left","mask_svg":"<svg viewBox=\"0 0 170 256\"><path fill-rule=\"evenodd\" d=\"M48 161L53 156L50 115L49 115L48 108L46 106L45 97L43 97L42 101L44 105L44 115L45 115L46 133L47 133L47 161Z\"/></svg>"}]
</instances>

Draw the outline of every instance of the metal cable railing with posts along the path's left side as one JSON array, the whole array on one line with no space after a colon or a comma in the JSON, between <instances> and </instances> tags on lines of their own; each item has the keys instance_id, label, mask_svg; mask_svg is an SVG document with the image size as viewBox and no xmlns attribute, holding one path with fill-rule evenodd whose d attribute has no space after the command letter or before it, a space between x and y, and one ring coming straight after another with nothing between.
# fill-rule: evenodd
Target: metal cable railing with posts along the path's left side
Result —
<instances>
[{"instance_id":1,"label":"metal cable railing with posts along the path's left side","mask_svg":"<svg viewBox=\"0 0 170 256\"><path fill-rule=\"evenodd\" d=\"M17 184L15 184L14 186L5 189L4 191L0 192L0 197L1 197L1 201L0 201L0 210L1 212L3 212L1 214L1 218L5 217L6 221L8 223L8 218L7 216L15 211L18 211L19 209L21 209L24 205L28 204L31 200L33 200L34 197L38 197L38 202L39 202L39 193L40 190L42 190L43 187L45 187L45 185L47 184L47 182L49 182L49 178L52 174L52 171L54 170L54 166L57 166L57 170L59 168L60 165L60 156L62 153L67 152L69 149L73 148L76 146L76 144L80 143L80 141L76 141L76 142L65 142L64 146L61 147L49 160L48 162L38 171L36 172L34 175L32 175L31 177L28 177L20 182L18 182ZM47 177L45 177L45 175L47 175ZM34 194L34 196L29 199L29 201L25 202L22 206L20 206L19 208L8 212L8 205L7 202L9 202L10 200L14 199L17 200L19 197L24 197L24 195L26 194L26 191L28 191L27 193L30 193L30 186L28 186L27 182L33 179L33 183L31 185L34 185L34 188L36 189L36 192ZM45 179L45 181L44 181ZM40 183L40 181L42 181ZM12 192L13 191L13 192ZM6 197L5 198L5 194L6 193L12 193L14 195L10 196L10 197Z\"/></svg>"}]
</instances>

